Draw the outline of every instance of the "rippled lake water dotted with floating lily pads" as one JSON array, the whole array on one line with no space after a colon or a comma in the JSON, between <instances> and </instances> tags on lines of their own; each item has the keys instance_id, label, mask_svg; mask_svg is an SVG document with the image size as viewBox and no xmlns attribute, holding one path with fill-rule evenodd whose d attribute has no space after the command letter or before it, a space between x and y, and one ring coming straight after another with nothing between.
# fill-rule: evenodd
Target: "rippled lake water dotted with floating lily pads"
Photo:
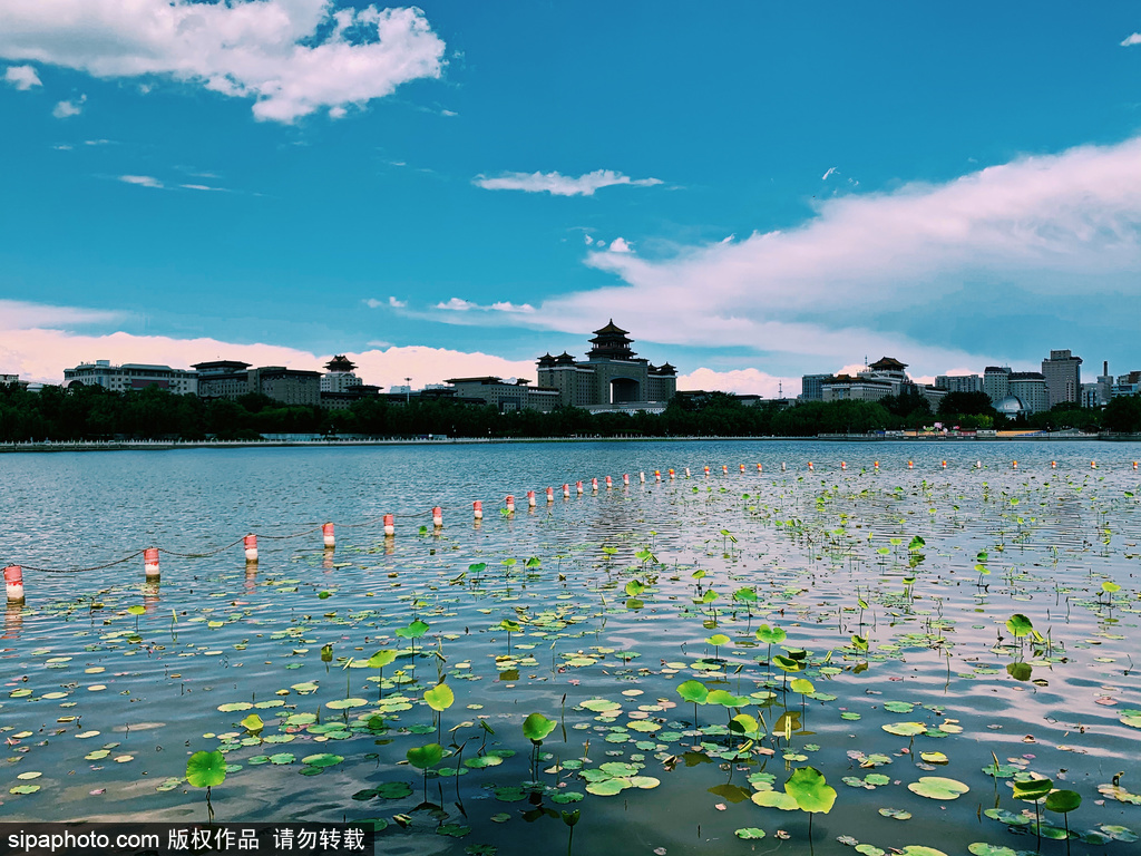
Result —
<instances>
[{"instance_id":1,"label":"rippled lake water dotted with floating lily pads","mask_svg":"<svg viewBox=\"0 0 1141 856\"><path fill-rule=\"evenodd\" d=\"M1133 853L1141 720L1123 711L1141 710L1139 457L1133 444L1087 442L3 455L5 564L67 571L149 546L170 554L156 587L141 558L25 571L26 606L7 611L0 640L0 814L204 819L186 758L221 748L230 773L213 789L218 819L381 818L386 854L565 848L559 813L574 809L581 854L801 853L808 815L751 796L811 766L837 791L812 822L822 854L857 841L872 854L1038 849L1025 818L982 814L1033 816L1011 792L1033 774L1083 798L1070 851ZM527 490L539 492L533 511ZM513 517L500 514L507 493ZM375 519L386 512L397 515L391 540ZM333 552L311 531L325 520L338 523ZM256 566L240 547L172 555L246 532L261 536ZM1014 613L1043 641L1015 638ZM429 625L415 655L396 635L413 620ZM520 623L510 653L503 620ZM788 676L811 683L807 695L768 664L761 624L787 633L771 654L809 652ZM714 647L714 635L728 641ZM382 672L345 668L379 649L400 655ZM454 703L437 732L423 693L440 678ZM727 691L728 706L701 705L695 724L675 689L686 680ZM557 722L537 776L521 732L532 712ZM763 720L766 736L750 745L730 733L738 712ZM259 732L240 725L250 713ZM437 740L464 748L426 783L402 761ZM984 770L992 753L998 778ZM319 766L330 754L341 760ZM924 790L922 777L969 790L930 799L908 789ZM735 835L750 827L766 838ZM1050 829L1042 853L1065 853Z\"/></svg>"}]
</instances>

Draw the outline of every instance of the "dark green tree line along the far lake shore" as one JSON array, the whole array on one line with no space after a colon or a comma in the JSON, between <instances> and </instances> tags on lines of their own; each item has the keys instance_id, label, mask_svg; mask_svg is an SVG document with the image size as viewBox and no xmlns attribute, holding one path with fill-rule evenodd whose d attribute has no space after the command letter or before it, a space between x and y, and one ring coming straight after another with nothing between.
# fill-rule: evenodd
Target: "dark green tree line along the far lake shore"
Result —
<instances>
[{"instance_id":1,"label":"dark green tree line along the far lake shore","mask_svg":"<svg viewBox=\"0 0 1141 856\"><path fill-rule=\"evenodd\" d=\"M941 422L962 430L1029 428L1141 433L1141 396L1114 398L1106 407L1058 405L1010 420L982 393L952 393L931 411L921 395L877 402L777 402L745 405L727 393L678 395L663 413L599 413L559 407L499 413L492 406L446 398L408 402L365 398L347 410L284 405L259 394L236 401L175 395L157 387L113 391L103 387L43 387L29 391L0 385L0 442L113 439L258 439L267 434L365 437L629 437L779 436L868 434Z\"/></svg>"}]
</instances>

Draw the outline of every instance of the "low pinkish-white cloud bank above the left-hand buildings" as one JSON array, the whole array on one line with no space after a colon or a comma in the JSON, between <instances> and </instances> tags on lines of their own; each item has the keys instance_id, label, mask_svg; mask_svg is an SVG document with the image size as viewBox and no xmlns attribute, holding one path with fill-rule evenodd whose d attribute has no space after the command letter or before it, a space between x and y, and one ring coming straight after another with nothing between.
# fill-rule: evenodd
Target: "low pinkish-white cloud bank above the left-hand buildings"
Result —
<instances>
[{"instance_id":1,"label":"low pinkish-white cloud bank above the left-hand buildings","mask_svg":"<svg viewBox=\"0 0 1141 856\"><path fill-rule=\"evenodd\" d=\"M92 360L113 364L152 363L186 369L207 360L241 360L253 365L285 365L319 371L332 354L314 354L278 345L238 345L218 339L173 339L164 336L133 336L75 332L84 325L116 324L126 314L75 307L41 306L0 300L0 366L24 380L62 383L64 369ZM436 383L468 374L534 377L532 361L518 362L480 352L467 353L427 346L377 347L349 353L357 375L366 383L390 387L415 378L418 383Z\"/></svg>"}]
</instances>

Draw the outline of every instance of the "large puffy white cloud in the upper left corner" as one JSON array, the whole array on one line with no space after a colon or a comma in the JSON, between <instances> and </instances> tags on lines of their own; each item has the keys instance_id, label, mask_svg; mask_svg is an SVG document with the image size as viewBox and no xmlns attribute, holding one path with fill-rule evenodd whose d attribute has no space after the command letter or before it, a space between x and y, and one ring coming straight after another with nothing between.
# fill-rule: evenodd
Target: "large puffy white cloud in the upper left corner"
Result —
<instances>
[{"instance_id":1,"label":"large puffy white cloud in the upper left corner","mask_svg":"<svg viewBox=\"0 0 1141 856\"><path fill-rule=\"evenodd\" d=\"M253 98L259 120L292 122L438 78L444 42L415 8L334 0L6 0L0 56L96 78L169 75ZM339 113L343 115L343 112Z\"/></svg>"}]
</instances>

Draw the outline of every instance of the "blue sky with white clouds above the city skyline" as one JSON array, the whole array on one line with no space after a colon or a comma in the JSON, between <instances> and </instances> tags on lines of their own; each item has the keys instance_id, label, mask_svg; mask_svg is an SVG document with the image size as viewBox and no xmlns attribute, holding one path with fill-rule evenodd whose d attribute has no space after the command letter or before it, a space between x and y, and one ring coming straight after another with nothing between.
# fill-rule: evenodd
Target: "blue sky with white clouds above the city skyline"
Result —
<instances>
[{"instance_id":1,"label":"blue sky with white clouds above the city skyline","mask_svg":"<svg viewBox=\"0 0 1141 856\"><path fill-rule=\"evenodd\" d=\"M1138 369L1139 31L1126 2L10 0L0 372L533 378L610 316L690 387Z\"/></svg>"}]
</instances>

